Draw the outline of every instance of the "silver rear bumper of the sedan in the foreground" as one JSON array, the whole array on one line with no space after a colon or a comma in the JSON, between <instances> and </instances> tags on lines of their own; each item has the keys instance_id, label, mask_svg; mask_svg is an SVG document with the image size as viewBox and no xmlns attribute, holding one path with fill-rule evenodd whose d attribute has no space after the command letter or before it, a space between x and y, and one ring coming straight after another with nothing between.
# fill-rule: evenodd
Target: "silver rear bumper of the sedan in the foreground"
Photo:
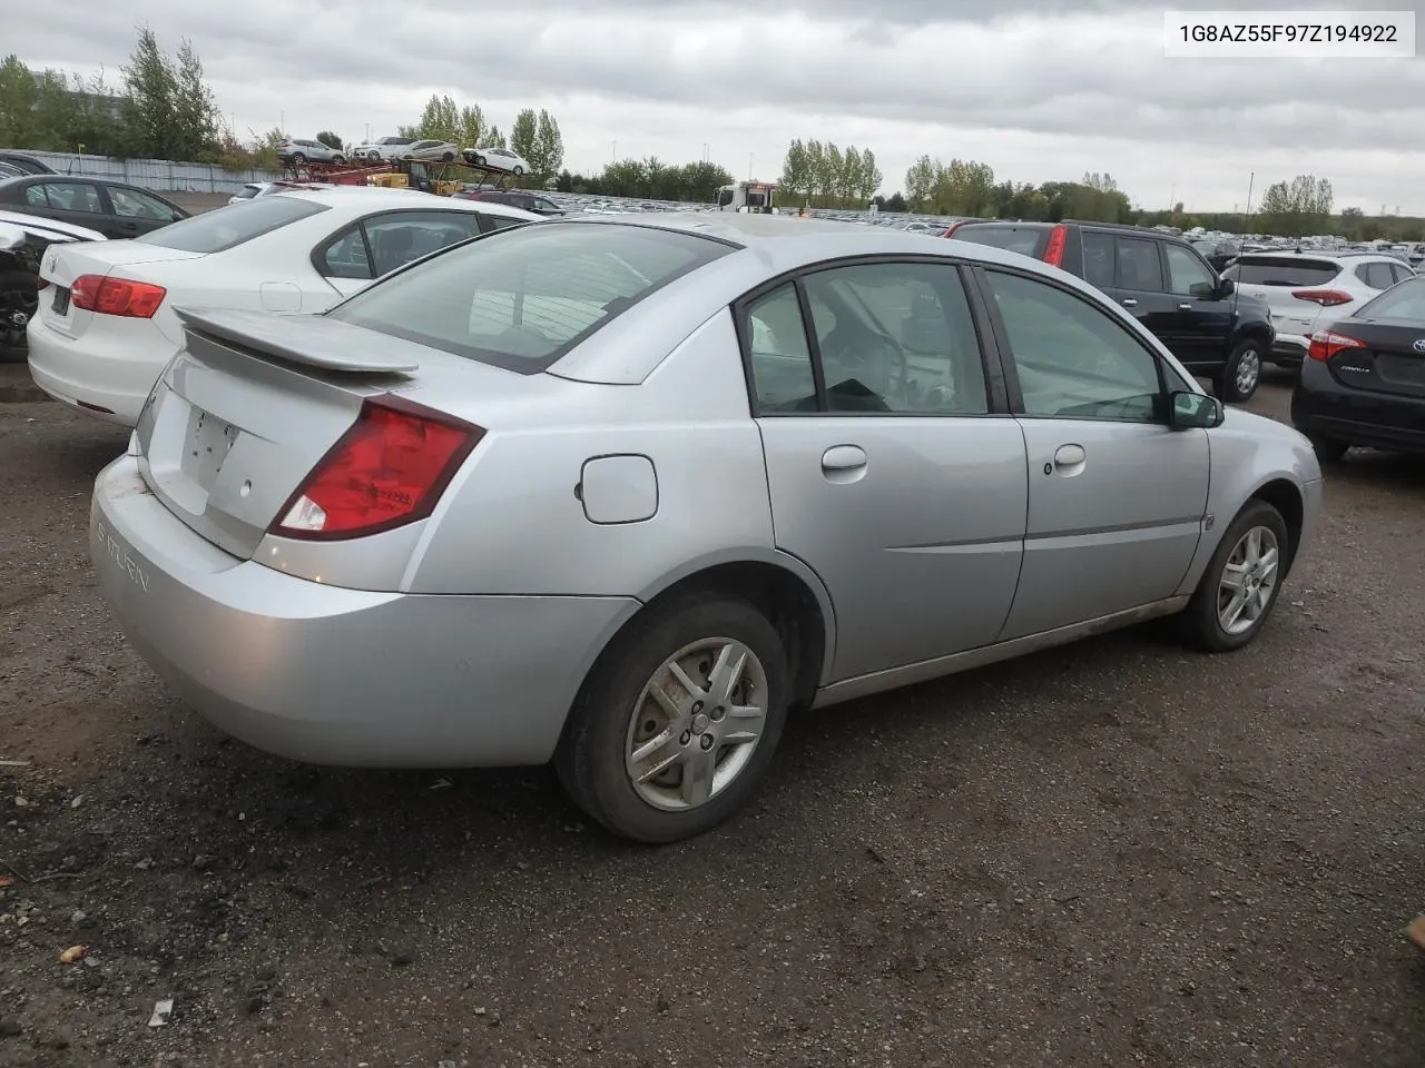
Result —
<instances>
[{"instance_id":1,"label":"silver rear bumper of the sedan in the foreground","mask_svg":"<svg viewBox=\"0 0 1425 1068\"><path fill-rule=\"evenodd\" d=\"M222 731L312 763L543 763L638 602L309 582L194 534L134 456L94 484L90 551L130 642Z\"/></svg>"}]
</instances>

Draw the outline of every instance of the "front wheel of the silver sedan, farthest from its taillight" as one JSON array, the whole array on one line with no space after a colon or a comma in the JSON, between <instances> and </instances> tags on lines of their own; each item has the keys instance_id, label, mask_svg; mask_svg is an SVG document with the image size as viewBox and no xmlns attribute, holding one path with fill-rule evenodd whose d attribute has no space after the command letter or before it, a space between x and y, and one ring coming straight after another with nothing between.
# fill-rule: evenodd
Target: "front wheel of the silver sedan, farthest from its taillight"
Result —
<instances>
[{"instance_id":1,"label":"front wheel of the silver sedan, farthest from its taillight","mask_svg":"<svg viewBox=\"0 0 1425 1068\"><path fill-rule=\"evenodd\" d=\"M1281 513L1253 500L1233 520L1183 614L1184 637L1206 652L1253 641L1287 577L1290 540Z\"/></svg>"}]
</instances>

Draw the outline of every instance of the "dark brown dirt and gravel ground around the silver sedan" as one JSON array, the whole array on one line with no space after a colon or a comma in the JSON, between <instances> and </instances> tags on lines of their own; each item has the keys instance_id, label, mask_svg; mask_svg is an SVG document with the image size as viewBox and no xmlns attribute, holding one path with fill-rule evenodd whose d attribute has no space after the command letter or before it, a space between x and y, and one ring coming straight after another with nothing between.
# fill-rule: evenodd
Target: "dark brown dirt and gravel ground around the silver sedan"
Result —
<instances>
[{"instance_id":1,"label":"dark brown dirt and gravel ground around the silver sedan","mask_svg":"<svg viewBox=\"0 0 1425 1068\"><path fill-rule=\"evenodd\" d=\"M319 770L187 712L88 567L124 437L0 404L0 1064L1425 1057L1419 463L1332 471L1253 648L1134 631L802 718L751 812L647 850L543 770Z\"/></svg>"}]
</instances>

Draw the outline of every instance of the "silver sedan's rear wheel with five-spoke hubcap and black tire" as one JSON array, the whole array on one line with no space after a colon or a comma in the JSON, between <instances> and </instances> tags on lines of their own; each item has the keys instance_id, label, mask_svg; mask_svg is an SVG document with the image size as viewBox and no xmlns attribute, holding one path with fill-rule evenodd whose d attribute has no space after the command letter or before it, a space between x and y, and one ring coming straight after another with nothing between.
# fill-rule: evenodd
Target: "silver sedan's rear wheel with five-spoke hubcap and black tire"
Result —
<instances>
[{"instance_id":1,"label":"silver sedan's rear wheel with five-spoke hubcap and black tire","mask_svg":"<svg viewBox=\"0 0 1425 1068\"><path fill-rule=\"evenodd\" d=\"M701 834L761 785L788 689L781 638L757 608L708 591L677 595L598 658L554 756L560 782L634 842Z\"/></svg>"}]
</instances>

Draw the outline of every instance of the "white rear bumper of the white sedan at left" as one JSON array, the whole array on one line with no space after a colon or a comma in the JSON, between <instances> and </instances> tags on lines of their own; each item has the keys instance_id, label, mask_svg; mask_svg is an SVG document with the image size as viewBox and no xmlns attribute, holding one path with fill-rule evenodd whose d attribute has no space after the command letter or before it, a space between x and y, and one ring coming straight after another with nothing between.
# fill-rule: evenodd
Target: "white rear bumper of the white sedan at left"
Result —
<instances>
[{"instance_id":1,"label":"white rear bumper of the white sedan at left","mask_svg":"<svg viewBox=\"0 0 1425 1068\"><path fill-rule=\"evenodd\" d=\"M148 393L177 352L147 320L142 336L86 332L67 337L48 326L41 313L30 320L27 337L36 386L56 400L127 427L138 423Z\"/></svg>"}]
</instances>

